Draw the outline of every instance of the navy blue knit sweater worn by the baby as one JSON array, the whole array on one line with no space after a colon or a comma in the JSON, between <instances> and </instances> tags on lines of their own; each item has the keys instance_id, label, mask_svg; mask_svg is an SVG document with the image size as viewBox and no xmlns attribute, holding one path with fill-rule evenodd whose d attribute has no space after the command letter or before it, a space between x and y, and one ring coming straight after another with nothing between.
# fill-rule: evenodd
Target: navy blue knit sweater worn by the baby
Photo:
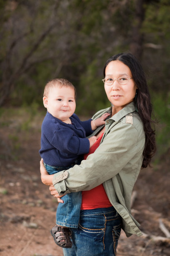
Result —
<instances>
[{"instance_id":1,"label":"navy blue knit sweater worn by the baby","mask_svg":"<svg viewBox=\"0 0 170 256\"><path fill-rule=\"evenodd\" d=\"M75 159L89 152L90 142L86 138L92 133L91 120L80 121L76 114L72 124L63 123L47 112L41 127L41 149L45 164L66 167Z\"/></svg>"}]
</instances>

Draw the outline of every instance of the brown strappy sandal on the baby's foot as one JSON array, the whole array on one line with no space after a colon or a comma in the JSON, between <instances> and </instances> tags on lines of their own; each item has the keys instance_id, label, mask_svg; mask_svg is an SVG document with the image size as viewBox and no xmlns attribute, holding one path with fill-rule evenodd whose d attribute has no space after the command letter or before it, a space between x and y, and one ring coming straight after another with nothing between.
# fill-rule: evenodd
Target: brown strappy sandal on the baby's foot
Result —
<instances>
[{"instance_id":1,"label":"brown strappy sandal on the baby's foot","mask_svg":"<svg viewBox=\"0 0 170 256\"><path fill-rule=\"evenodd\" d=\"M50 231L54 238L55 243L62 248L71 248L72 242L70 241L71 231L69 228L55 226ZM62 241L65 240L65 241Z\"/></svg>"}]
</instances>

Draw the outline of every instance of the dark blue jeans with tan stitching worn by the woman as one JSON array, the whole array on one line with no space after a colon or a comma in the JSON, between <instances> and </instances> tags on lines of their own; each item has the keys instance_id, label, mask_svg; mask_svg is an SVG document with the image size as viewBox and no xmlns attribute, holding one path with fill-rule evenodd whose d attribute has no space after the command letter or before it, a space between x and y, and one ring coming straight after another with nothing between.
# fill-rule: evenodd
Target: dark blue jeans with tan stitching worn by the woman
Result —
<instances>
[{"instance_id":1,"label":"dark blue jeans with tan stitching worn by the woman","mask_svg":"<svg viewBox=\"0 0 170 256\"><path fill-rule=\"evenodd\" d=\"M122 219L114 207L80 210L78 228L72 231L72 248L64 256L115 256Z\"/></svg>"}]
</instances>

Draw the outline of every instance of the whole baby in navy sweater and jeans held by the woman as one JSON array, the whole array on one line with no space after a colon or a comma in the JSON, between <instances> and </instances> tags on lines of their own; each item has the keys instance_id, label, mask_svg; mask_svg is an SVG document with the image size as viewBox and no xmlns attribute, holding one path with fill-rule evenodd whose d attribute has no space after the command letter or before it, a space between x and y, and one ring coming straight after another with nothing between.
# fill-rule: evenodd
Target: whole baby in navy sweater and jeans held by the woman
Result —
<instances>
[{"instance_id":1,"label":"whole baby in navy sweater and jeans held by the woman","mask_svg":"<svg viewBox=\"0 0 170 256\"><path fill-rule=\"evenodd\" d=\"M42 122L40 156L49 174L54 174L80 164L82 155L97 140L90 136L98 126L105 125L110 115L103 114L96 120L80 121L75 112L75 87L66 79L52 79L45 85L43 103L47 114ZM81 192L64 196L56 212L56 226L51 235L55 243L71 248L71 231L77 228L80 217Z\"/></svg>"}]
</instances>

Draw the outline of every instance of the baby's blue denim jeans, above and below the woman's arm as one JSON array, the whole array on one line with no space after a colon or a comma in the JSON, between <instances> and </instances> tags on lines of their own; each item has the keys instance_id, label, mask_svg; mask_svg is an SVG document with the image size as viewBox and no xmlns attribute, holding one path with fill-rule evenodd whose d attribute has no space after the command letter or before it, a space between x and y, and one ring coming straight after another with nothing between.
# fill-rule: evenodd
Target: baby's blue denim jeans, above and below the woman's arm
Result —
<instances>
[{"instance_id":1,"label":"baby's blue denim jeans, above and below the woman's arm","mask_svg":"<svg viewBox=\"0 0 170 256\"><path fill-rule=\"evenodd\" d=\"M76 163L79 164L79 162ZM62 170L67 170L73 165L68 167L57 167L44 163L44 166L49 174L55 174ZM82 201L81 192L67 194L62 197L62 200L64 203L59 203L57 207L56 224L68 228L78 228Z\"/></svg>"}]
</instances>

